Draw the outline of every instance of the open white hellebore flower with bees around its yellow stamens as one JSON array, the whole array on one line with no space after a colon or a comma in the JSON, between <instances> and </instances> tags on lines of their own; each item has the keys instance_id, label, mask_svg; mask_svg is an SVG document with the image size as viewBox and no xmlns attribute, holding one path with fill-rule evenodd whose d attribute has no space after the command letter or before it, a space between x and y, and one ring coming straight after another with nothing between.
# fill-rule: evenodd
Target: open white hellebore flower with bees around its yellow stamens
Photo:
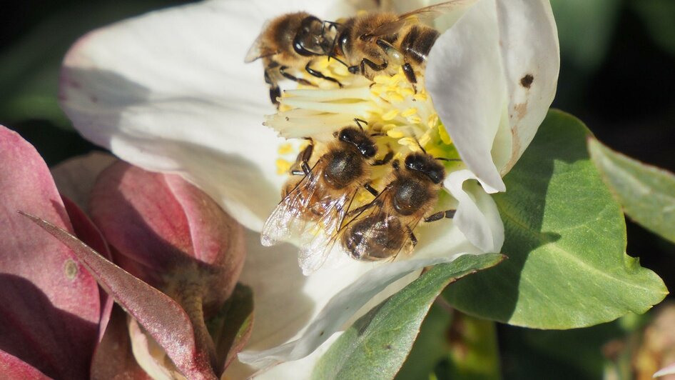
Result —
<instances>
[{"instance_id":1,"label":"open white hellebore flower with bees around its yellow stamens","mask_svg":"<svg viewBox=\"0 0 675 380\"><path fill-rule=\"evenodd\" d=\"M394 3L395 11L414 8ZM416 229L420 244L410 257L352 260L303 276L298 249L264 248L257 233L248 233L241 281L253 288L257 318L239 358L253 369L325 348L355 313L374 305L374 296L400 289L423 266L498 252L504 231L488 193L507 190L501 177L527 148L555 93L559 46L547 0L457 1L435 20L443 33L419 94L395 76L375 84L352 78L349 96L339 89L289 91L280 112L265 121L273 129L261 126L275 109L262 68L243 58L265 21L300 10L336 20L359 9L347 1L207 1L93 31L64 59L61 104L83 136L144 169L180 174L253 231L260 231L288 179L277 171L288 144L273 129L285 137L330 134L366 114L397 139L399 154L422 144L431 154L461 159L446 166L452 197L441 196L438 207L456 208L454 221ZM371 90L392 108L378 109L383 105ZM402 108L408 99L419 103ZM230 368L232 376L253 371Z\"/></svg>"}]
</instances>

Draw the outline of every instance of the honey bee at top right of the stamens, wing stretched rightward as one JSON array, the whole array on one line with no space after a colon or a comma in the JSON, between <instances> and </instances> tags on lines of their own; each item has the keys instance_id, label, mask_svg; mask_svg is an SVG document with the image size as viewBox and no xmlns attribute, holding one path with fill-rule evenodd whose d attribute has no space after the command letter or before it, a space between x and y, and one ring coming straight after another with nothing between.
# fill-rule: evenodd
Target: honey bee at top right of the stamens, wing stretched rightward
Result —
<instances>
[{"instance_id":1,"label":"honey bee at top right of the stamens, wing stretched rightward","mask_svg":"<svg viewBox=\"0 0 675 380\"><path fill-rule=\"evenodd\" d=\"M465 1L453 0L426 6L405 14L372 12L342 21L337 36L335 54L342 56L350 73L368 79L379 71L396 74L399 67L413 86L417 83L415 69L422 70L427 55L440 35L436 29L422 24Z\"/></svg>"}]
</instances>

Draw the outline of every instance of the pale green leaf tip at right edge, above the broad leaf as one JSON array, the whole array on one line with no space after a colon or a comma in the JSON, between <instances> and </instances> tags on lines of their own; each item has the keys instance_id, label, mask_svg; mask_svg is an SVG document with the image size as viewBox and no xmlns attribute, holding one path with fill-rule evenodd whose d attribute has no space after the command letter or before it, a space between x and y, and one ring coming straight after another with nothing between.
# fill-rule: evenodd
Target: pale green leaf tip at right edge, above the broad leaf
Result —
<instances>
[{"instance_id":1,"label":"pale green leaf tip at right edge, above the broad leaf","mask_svg":"<svg viewBox=\"0 0 675 380\"><path fill-rule=\"evenodd\" d=\"M675 242L675 176L616 153L589 139L588 149L604 183L634 221Z\"/></svg>"}]
</instances>

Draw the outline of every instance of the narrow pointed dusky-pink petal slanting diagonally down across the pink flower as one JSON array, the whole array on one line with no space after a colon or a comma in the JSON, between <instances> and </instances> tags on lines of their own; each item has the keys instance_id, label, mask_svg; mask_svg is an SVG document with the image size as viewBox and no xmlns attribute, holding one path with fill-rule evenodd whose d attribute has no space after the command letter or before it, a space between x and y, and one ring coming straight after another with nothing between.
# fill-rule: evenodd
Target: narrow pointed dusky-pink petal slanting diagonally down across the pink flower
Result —
<instances>
[{"instance_id":1,"label":"narrow pointed dusky-pink petal slanting diagonally down across the pink flower","mask_svg":"<svg viewBox=\"0 0 675 380\"><path fill-rule=\"evenodd\" d=\"M162 346L185 376L215 379L208 354L197 346L190 319L181 306L106 260L68 231L36 216L24 215L72 249L98 283Z\"/></svg>"}]
</instances>

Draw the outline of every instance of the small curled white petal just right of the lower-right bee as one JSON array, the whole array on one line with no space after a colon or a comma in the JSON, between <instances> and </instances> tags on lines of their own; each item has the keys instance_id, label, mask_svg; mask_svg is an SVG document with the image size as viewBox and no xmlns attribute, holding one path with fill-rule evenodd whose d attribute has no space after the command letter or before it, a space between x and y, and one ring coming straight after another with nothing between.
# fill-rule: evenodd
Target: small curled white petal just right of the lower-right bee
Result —
<instances>
[{"instance_id":1,"label":"small curled white petal just right of the lower-right bee","mask_svg":"<svg viewBox=\"0 0 675 380\"><path fill-rule=\"evenodd\" d=\"M504 244L504 224L492 197L476 181L469 170L455 171L444 185L457 199L455 225L466 238L483 252L499 252Z\"/></svg>"}]
</instances>

